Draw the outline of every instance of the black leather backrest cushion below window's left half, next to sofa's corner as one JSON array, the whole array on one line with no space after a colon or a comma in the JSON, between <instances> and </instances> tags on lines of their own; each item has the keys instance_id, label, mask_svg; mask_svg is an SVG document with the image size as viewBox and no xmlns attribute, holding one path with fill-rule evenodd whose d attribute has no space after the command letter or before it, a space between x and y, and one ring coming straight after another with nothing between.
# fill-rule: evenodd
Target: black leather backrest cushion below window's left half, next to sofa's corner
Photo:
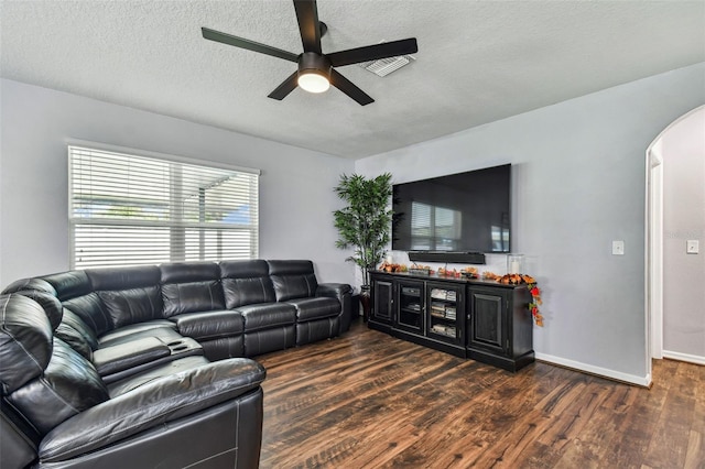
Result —
<instances>
[{"instance_id":1,"label":"black leather backrest cushion below window's left half, next to sofa's corner","mask_svg":"<svg viewBox=\"0 0 705 469\"><path fill-rule=\"evenodd\" d=\"M161 273L156 265L88 269L86 273L112 328L164 318ZM83 316L82 319L85 320Z\"/></svg>"}]
</instances>

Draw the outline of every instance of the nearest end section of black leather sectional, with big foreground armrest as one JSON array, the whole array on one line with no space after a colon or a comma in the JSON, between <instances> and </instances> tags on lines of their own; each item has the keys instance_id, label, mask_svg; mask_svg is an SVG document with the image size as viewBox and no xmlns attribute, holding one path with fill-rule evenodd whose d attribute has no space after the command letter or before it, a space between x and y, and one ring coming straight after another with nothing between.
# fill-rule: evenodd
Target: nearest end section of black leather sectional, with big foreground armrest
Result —
<instances>
[{"instance_id":1,"label":"nearest end section of black leather sectional, with big foreground armrest","mask_svg":"<svg viewBox=\"0 0 705 469\"><path fill-rule=\"evenodd\" d=\"M0 296L3 468L258 467L260 364L188 356L106 384L55 337L58 301L29 296Z\"/></svg>"}]
</instances>

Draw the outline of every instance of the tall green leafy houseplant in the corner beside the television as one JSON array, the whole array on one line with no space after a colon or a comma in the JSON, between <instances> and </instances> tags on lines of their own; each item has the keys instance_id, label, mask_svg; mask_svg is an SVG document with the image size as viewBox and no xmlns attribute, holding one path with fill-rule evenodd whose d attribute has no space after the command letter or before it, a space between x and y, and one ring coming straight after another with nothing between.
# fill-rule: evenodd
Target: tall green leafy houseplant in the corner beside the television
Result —
<instances>
[{"instance_id":1,"label":"tall green leafy houseplant in the corner beside the television","mask_svg":"<svg viewBox=\"0 0 705 469\"><path fill-rule=\"evenodd\" d=\"M346 261L360 268L365 286L370 283L369 271L384 259L390 240L393 215L390 208L391 179L390 173L373 178L344 174L335 187L338 197L347 203L346 207L333 214L338 229L336 247L355 249Z\"/></svg>"}]
</instances>

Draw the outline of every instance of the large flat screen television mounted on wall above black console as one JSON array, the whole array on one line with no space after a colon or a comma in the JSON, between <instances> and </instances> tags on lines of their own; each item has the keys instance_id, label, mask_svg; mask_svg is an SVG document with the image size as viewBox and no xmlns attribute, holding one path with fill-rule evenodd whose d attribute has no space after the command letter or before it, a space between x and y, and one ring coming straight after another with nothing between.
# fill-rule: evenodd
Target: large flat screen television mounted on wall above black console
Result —
<instances>
[{"instance_id":1,"label":"large flat screen television mounted on wall above black console","mask_svg":"<svg viewBox=\"0 0 705 469\"><path fill-rule=\"evenodd\" d=\"M393 186L392 249L507 253L511 165Z\"/></svg>"}]
</instances>

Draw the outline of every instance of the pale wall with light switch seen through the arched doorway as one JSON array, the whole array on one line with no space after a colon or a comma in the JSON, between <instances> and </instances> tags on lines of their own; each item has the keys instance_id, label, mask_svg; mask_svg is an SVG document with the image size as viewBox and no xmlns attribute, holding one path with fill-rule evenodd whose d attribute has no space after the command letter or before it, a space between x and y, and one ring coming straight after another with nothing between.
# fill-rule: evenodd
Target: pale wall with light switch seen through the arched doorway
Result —
<instances>
[{"instance_id":1,"label":"pale wall with light switch seen through the arched doorway","mask_svg":"<svg viewBox=\"0 0 705 469\"><path fill-rule=\"evenodd\" d=\"M663 355L705 363L705 108L661 138ZM687 254L686 240L701 252Z\"/></svg>"}]
</instances>

